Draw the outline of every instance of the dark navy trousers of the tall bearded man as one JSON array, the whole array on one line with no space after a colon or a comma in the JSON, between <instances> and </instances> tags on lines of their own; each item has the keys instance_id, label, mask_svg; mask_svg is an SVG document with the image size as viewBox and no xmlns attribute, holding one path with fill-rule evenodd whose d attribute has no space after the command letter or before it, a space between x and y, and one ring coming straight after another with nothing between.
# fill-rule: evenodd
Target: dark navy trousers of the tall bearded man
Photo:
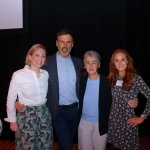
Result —
<instances>
[{"instance_id":1,"label":"dark navy trousers of the tall bearded man","mask_svg":"<svg viewBox=\"0 0 150 150\"><path fill-rule=\"evenodd\" d=\"M78 124L78 106L74 108L59 108L53 122L53 127L60 144L59 150L72 150L72 143Z\"/></svg>"}]
</instances>

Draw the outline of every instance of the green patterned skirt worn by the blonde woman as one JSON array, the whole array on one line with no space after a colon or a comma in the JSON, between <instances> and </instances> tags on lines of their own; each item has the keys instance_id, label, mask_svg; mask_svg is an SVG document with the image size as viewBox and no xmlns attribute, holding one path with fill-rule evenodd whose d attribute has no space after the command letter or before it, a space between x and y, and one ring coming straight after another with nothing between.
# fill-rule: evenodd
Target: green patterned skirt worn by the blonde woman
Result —
<instances>
[{"instance_id":1,"label":"green patterned skirt worn by the blonde woman","mask_svg":"<svg viewBox=\"0 0 150 150\"><path fill-rule=\"evenodd\" d=\"M46 105L26 106L17 115L16 150L53 150L51 115Z\"/></svg>"}]
</instances>

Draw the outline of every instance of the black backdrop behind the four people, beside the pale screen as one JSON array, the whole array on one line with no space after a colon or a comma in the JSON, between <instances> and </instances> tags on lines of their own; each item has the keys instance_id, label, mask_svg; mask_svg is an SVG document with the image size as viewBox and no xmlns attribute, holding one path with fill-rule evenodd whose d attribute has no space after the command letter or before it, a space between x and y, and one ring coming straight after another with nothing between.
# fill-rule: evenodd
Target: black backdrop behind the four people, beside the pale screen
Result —
<instances>
[{"instance_id":1,"label":"black backdrop behind the four people, beside the pale screen","mask_svg":"<svg viewBox=\"0 0 150 150\"><path fill-rule=\"evenodd\" d=\"M87 50L100 53L100 71L108 74L108 64L116 48L125 48L135 60L136 69L150 86L150 1L149 0L28 0L28 32L0 33L1 104L0 118L6 117L6 97L11 75L24 67L28 49L43 44L48 55L57 51L56 34L68 28L74 35L71 54L82 59ZM146 99L139 94L140 115ZM0 139L14 139L4 122ZM140 125L141 134L150 135L150 118Z\"/></svg>"}]
</instances>

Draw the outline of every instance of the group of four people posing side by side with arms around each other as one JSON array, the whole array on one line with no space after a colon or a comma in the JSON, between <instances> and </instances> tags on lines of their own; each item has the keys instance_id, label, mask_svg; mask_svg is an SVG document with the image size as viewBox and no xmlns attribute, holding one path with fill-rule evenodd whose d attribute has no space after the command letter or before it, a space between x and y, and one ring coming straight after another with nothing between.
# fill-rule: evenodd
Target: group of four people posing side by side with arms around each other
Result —
<instances>
[{"instance_id":1,"label":"group of four people posing side by side with arms around each other","mask_svg":"<svg viewBox=\"0 0 150 150\"><path fill-rule=\"evenodd\" d=\"M100 55L87 51L82 64L70 55L73 44L72 33L63 29L57 34L56 54L46 58L45 47L35 44L25 67L13 73L5 120L16 133L16 150L53 150L53 129L59 150L71 150L77 127L79 150L105 150L106 142L114 148L138 150L137 125L150 114L150 89L132 58L127 51L116 50L106 78L98 71ZM147 104L136 117L139 91Z\"/></svg>"}]
</instances>

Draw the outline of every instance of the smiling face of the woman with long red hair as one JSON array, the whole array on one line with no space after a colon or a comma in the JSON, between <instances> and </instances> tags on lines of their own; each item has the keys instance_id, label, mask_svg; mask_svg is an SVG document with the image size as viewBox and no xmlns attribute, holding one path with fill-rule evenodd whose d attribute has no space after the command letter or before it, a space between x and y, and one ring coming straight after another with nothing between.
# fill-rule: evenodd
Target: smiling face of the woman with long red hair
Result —
<instances>
[{"instance_id":1,"label":"smiling face of the woman with long red hair","mask_svg":"<svg viewBox=\"0 0 150 150\"><path fill-rule=\"evenodd\" d=\"M128 65L127 57L124 53L116 53L114 56L114 65L119 75L124 76Z\"/></svg>"}]
</instances>

